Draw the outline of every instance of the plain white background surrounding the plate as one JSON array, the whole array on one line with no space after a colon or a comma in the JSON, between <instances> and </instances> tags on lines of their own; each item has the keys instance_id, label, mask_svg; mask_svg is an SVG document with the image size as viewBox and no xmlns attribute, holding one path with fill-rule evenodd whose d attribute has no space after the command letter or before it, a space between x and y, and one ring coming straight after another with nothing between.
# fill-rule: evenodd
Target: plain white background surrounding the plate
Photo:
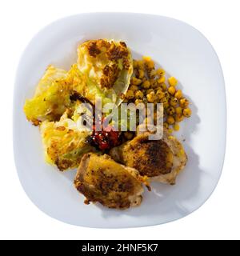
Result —
<instances>
[{"instance_id":1,"label":"plain white background surrounding the plate","mask_svg":"<svg viewBox=\"0 0 240 256\"><path fill-rule=\"evenodd\" d=\"M238 2L238 0L1 1L0 238L239 239L240 6ZM200 209L186 218L162 226L127 230L70 226L38 210L27 198L18 181L12 149L12 98L15 70L22 50L38 30L55 19L94 11L141 12L180 19L200 30L210 40L218 54L226 82L226 159L222 177L214 194ZM156 30L158 30L157 26ZM218 97L218 91L213 97Z\"/></svg>"}]
</instances>

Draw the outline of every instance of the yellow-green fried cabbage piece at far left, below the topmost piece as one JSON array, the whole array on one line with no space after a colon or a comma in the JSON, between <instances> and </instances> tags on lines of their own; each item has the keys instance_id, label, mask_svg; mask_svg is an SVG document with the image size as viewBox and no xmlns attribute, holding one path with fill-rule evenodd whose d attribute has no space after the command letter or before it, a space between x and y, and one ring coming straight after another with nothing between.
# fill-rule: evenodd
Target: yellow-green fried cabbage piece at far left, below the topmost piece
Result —
<instances>
[{"instance_id":1,"label":"yellow-green fried cabbage piece at far left, below the topmost piece","mask_svg":"<svg viewBox=\"0 0 240 256\"><path fill-rule=\"evenodd\" d=\"M26 99L26 118L37 126L45 120L58 121L66 109L74 109L75 102L70 99L74 93L88 99L92 104L96 97L102 98L103 104L111 102L94 82L78 70L77 64L71 66L66 73L50 66L38 83L34 98Z\"/></svg>"}]
</instances>

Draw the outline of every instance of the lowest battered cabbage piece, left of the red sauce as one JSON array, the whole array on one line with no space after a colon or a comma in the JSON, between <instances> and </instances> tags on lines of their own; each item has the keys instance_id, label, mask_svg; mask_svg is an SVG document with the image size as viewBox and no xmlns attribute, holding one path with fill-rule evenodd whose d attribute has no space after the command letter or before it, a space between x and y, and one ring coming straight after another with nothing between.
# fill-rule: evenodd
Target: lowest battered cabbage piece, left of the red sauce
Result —
<instances>
[{"instance_id":1,"label":"lowest battered cabbage piece, left of the red sauce","mask_svg":"<svg viewBox=\"0 0 240 256\"><path fill-rule=\"evenodd\" d=\"M63 114L59 122L44 121L40 125L46 162L59 170L78 167L82 155L94 151L86 144L87 130L79 130L77 123Z\"/></svg>"}]
</instances>

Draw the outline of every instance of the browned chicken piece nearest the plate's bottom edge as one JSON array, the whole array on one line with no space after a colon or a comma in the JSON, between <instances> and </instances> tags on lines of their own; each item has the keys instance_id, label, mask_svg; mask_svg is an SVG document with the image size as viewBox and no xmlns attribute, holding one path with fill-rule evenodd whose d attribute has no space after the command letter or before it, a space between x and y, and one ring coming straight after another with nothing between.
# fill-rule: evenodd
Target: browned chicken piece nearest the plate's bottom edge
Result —
<instances>
[{"instance_id":1,"label":"browned chicken piece nearest the plate's bottom edge","mask_svg":"<svg viewBox=\"0 0 240 256\"><path fill-rule=\"evenodd\" d=\"M89 153L82 158L74 186L85 195L86 203L100 202L123 210L142 202L145 180L137 170L114 162L106 154Z\"/></svg>"}]
</instances>

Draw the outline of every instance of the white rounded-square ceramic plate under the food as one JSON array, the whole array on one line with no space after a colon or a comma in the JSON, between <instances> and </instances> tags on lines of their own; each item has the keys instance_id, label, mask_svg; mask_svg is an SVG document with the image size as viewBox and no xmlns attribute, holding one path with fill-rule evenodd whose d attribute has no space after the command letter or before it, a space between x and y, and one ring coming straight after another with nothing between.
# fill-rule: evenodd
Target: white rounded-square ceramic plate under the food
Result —
<instances>
[{"instance_id":1,"label":"white rounded-square ceramic plate under the food","mask_svg":"<svg viewBox=\"0 0 240 256\"><path fill-rule=\"evenodd\" d=\"M74 189L75 170L60 173L43 160L38 128L22 107L32 97L46 66L69 69L80 42L122 40L134 56L149 55L174 75L190 98L192 117L177 136L189 157L175 186L153 184L141 206L110 210L83 203ZM194 27L148 14L97 13L62 18L41 30L19 62L14 89L14 156L23 189L40 210L79 226L131 227L170 222L190 214L210 197L222 172L226 144L226 95L222 70L210 42ZM24 207L24 206L23 206Z\"/></svg>"}]
</instances>

